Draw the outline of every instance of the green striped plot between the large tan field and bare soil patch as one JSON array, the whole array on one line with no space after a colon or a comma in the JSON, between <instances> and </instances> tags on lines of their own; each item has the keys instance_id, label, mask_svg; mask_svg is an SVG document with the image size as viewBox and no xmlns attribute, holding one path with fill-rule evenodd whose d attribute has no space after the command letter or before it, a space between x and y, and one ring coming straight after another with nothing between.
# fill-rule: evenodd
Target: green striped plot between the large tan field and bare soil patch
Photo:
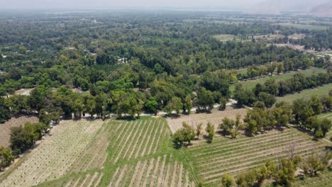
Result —
<instances>
[{"instance_id":1,"label":"green striped plot between the large tan field and bare soil patch","mask_svg":"<svg viewBox=\"0 0 332 187\"><path fill-rule=\"evenodd\" d=\"M115 122L111 133L108 163L138 159L162 151L170 143L170 130L165 120L142 118Z\"/></svg>"}]
</instances>

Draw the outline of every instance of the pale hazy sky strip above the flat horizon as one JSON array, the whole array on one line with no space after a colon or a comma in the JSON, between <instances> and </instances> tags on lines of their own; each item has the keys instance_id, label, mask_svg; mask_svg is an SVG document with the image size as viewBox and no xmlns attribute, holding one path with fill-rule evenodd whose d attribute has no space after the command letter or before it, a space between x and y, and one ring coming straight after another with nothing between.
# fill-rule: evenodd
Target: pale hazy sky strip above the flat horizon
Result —
<instances>
[{"instance_id":1,"label":"pale hazy sky strip above the flat horizon","mask_svg":"<svg viewBox=\"0 0 332 187\"><path fill-rule=\"evenodd\" d=\"M250 6L264 0L0 0L1 9Z\"/></svg>"}]
</instances>

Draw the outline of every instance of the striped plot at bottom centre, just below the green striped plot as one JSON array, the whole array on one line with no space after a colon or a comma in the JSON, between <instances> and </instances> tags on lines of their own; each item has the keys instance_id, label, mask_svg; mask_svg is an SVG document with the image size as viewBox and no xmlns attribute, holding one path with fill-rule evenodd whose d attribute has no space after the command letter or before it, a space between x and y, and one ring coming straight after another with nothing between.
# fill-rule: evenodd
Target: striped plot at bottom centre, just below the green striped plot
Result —
<instances>
[{"instance_id":1,"label":"striped plot at bottom centre, just below the green striped plot","mask_svg":"<svg viewBox=\"0 0 332 187\"><path fill-rule=\"evenodd\" d=\"M118 166L107 186L194 186L189 171L172 154Z\"/></svg>"}]
</instances>

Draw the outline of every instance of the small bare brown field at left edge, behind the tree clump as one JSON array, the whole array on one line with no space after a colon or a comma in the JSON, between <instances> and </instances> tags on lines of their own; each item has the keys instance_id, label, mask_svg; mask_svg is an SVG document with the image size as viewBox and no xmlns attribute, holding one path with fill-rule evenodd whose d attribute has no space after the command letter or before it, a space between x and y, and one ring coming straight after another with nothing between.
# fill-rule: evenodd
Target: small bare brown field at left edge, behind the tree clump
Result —
<instances>
[{"instance_id":1,"label":"small bare brown field at left edge, behind the tree clump","mask_svg":"<svg viewBox=\"0 0 332 187\"><path fill-rule=\"evenodd\" d=\"M11 118L11 120L6 121L6 123L0 124L0 147L9 147L11 128L24 125L25 123L38 123L38 118L23 116L19 118Z\"/></svg>"}]
</instances>

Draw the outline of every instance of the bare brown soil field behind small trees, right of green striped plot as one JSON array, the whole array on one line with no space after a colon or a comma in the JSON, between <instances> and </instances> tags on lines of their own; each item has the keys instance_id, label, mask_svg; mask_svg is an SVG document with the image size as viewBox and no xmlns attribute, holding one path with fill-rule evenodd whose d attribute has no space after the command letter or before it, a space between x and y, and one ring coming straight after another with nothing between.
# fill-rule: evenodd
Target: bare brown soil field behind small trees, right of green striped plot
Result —
<instances>
[{"instance_id":1,"label":"bare brown soil field behind small trees, right of green striped plot","mask_svg":"<svg viewBox=\"0 0 332 187\"><path fill-rule=\"evenodd\" d=\"M215 128L218 128L218 125L221 123L223 118L227 117L230 119L236 119L236 115L240 114L242 118L244 118L248 109L246 108L233 108L228 106L225 111L218 111L214 108L211 113L194 113L190 115L181 115L179 118L166 118L168 125L170 126L170 130L174 133L175 131L182 128L182 123L186 122L189 125L193 125L194 128L199 123L203 123L203 129L206 128L207 123L212 123Z\"/></svg>"}]
</instances>

